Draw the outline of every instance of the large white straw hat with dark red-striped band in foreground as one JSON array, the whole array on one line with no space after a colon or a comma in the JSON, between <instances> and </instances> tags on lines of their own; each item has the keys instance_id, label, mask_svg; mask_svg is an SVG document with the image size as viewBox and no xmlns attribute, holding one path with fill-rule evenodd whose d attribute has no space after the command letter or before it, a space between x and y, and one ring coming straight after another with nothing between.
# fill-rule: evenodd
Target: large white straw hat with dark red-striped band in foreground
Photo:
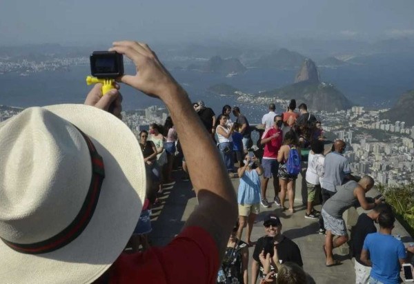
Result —
<instances>
[{"instance_id":1,"label":"large white straw hat with dark red-striped band in foreground","mask_svg":"<svg viewBox=\"0 0 414 284\"><path fill-rule=\"evenodd\" d=\"M50 105L0 123L0 283L95 281L137 224L145 176L134 134L103 110Z\"/></svg>"}]
</instances>

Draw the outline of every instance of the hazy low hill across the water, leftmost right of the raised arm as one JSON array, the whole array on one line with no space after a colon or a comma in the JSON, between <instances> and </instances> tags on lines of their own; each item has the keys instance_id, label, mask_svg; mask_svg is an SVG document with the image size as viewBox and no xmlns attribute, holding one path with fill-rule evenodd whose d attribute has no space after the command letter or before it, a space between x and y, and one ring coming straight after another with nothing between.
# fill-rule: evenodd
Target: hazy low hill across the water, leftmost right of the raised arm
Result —
<instances>
[{"instance_id":1,"label":"hazy low hill across the water, leftmost right of the raised arm","mask_svg":"<svg viewBox=\"0 0 414 284\"><path fill-rule=\"evenodd\" d=\"M212 57L206 63L201 65L192 64L188 66L188 69L227 74L231 72L240 73L247 70L237 58L222 59L221 57Z\"/></svg>"}]
</instances>

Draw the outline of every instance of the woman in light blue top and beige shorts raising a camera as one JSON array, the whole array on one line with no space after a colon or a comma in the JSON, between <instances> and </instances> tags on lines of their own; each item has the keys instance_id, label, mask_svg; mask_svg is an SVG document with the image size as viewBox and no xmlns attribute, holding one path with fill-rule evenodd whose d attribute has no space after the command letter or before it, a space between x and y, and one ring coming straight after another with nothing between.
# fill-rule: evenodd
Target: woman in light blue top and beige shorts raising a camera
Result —
<instances>
[{"instance_id":1,"label":"woman in light blue top and beige shorts raising a camera","mask_svg":"<svg viewBox=\"0 0 414 284\"><path fill-rule=\"evenodd\" d=\"M240 184L237 191L237 203L239 203L239 230L237 239L242 239L244 227L247 225L246 243L251 246L250 236L257 214L260 212L260 178L263 174L262 165L255 156L250 158L246 154L244 166L237 170Z\"/></svg>"}]
</instances>

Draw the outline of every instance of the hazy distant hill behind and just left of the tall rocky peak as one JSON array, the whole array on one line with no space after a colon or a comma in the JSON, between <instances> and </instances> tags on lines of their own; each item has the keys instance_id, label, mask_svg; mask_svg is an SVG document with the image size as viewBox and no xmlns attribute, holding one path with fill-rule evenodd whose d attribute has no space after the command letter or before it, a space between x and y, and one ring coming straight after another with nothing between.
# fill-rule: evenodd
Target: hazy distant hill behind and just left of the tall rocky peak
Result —
<instances>
[{"instance_id":1,"label":"hazy distant hill behind and just left of the tall rocky peak","mask_svg":"<svg viewBox=\"0 0 414 284\"><path fill-rule=\"evenodd\" d=\"M254 65L257 68L297 68L304 59L305 57L302 54L281 48L269 55L260 57Z\"/></svg>"}]
</instances>

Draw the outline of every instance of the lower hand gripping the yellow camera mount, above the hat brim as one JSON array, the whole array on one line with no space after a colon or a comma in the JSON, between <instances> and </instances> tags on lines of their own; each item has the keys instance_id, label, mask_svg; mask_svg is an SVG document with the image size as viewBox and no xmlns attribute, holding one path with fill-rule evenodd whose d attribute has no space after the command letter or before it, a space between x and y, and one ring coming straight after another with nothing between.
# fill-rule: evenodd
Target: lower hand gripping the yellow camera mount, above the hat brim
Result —
<instances>
[{"instance_id":1,"label":"lower hand gripping the yellow camera mount, above the hat brim","mask_svg":"<svg viewBox=\"0 0 414 284\"><path fill-rule=\"evenodd\" d=\"M115 89L110 90L103 96L102 94L102 84L97 83L90 90L89 94L86 96L85 105L92 105L101 110L106 110L107 112L112 113L117 116L119 119L122 119L122 95L118 91L119 85L115 85Z\"/></svg>"}]
</instances>

